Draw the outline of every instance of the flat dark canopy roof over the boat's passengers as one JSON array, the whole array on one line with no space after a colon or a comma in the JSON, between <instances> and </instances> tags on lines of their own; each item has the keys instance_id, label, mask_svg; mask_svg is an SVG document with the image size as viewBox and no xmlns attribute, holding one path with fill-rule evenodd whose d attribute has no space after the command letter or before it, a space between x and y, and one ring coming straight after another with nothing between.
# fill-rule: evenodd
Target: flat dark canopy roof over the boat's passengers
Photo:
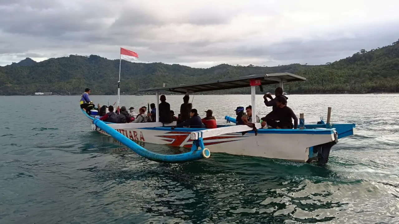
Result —
<instances>
[{"instance_id":1,"label":"flat dark canopy roof over the boat's passengers","mask_svg":"<svg viewBox=\"0 0 399 224\"><path fill-rule=\"evenodd\" d=\"M160 91L166 90L170 92L206 92L214 90L224 90L233 88L249 87L249 81L251 79L257 79L261 81L261 85L278 84L280 82L296 82L296 81L306 81L306 78L294 75L291 73L273 73L273 74L262 74L262 75L248 75L232 79L220 79L216 81L209 81L203 83L193 83L193 84L180 84L175 86L165 86L165 87L154 87L140 89L138 92L148 92L148 91Z\"/></svg>"}]
</instances>

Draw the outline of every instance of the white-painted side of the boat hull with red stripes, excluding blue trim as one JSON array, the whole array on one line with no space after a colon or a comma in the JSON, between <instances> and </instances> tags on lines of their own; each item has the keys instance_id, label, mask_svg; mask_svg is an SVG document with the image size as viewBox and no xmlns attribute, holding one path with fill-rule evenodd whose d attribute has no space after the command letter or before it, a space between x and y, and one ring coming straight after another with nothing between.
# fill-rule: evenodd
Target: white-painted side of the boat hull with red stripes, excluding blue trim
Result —
<instances>
[{"instance_id":1,"label":"white-painted side of the boat hull with red stripes, excluding blue trim","mask_svg":"<svg viewBox=\"0 0 399 224\"><path fill-rule=\"evenodd\" d=\"M191 148L193 141L190 139L190 133L195 130L182 129L171 130L170 128L159 127L115 130L132 141ZM109 136L99 128L96 131ZM204 145L211 153L247 155L298 162L306 162L310 159L311 147L332 141L336 141L334 131L325 134L281 134L262 133L261 130L258 130L257 136L254 132L248 132L245 135L233 133L203 139Z\"/></svg>"}]
</instances>

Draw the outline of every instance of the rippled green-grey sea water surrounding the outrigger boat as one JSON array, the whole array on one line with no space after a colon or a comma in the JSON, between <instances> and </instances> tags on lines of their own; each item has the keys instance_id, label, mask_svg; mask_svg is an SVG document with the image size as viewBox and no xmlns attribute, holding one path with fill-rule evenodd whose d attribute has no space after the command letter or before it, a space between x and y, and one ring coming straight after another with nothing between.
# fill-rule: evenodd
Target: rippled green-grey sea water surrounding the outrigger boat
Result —
<instances>
[{"instance_id":1,"label":"rippled green-grey sea water surrounding the outrigger boat","mask_svg":"<svg viewBox=\"0 0 399 224\"><path fill-rule=\"evenodd\" d=\"M124 106L154 96L121 96ZM91 96L113 104L116 96ZM148 161L91 131L79 96L0 96L1 224L399 223L399 95L289 95L306 117L356 123L326 167L213 153ZM182 96L167 96L178 112ZM233 116L249 95L194 97L194 108ZM271 108L258 97L261 115ZM159 153L180 149L145 144Z\"/></svg>"}]
</instances>

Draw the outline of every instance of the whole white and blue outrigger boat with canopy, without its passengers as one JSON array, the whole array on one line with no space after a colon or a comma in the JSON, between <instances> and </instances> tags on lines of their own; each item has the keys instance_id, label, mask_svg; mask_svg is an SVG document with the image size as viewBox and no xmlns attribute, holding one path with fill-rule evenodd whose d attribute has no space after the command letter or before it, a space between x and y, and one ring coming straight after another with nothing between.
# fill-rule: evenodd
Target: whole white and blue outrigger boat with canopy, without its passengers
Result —
<instances>
[{"instance_id":1,"label":"whole white and blue outrigger boat with canopy, without its passengers","mask_svg":"<svg viewBox=\"0 0 399 224\"><path fill-rule=\"evenodd\" d=\"M157 105L159 92L169 91L182 94L206 92L251 86L252 116L257 114L255 88L257 85L280 84L294 81L305 81L304 77L290 73L275 73L265 75L250 75L245 77L217 80L196 84L182 84L159 88L138 90L139 92L155 92ZM262 88L262 87L261 87ZM137 124L110 124L91 119L92 130L112 136L137 154L159 162L185 162L209 158L212 153L228 153L232 155L247 155L284 159L289 161L327 163L330 150L338 139L351 136L355 132L355 124L327 124L322 117L306 119L304 129L268 129L261 124L255 124L257 136L253 128L246 125L231 125L234 118L226 116L223 124L218 120L214 129L175 128L176 122L163 124L159 122L158 106L156 107L156 122ZM83 111L83 110L82 110ZM314 122L316 124L309 124ZM246 134L242 134L247 132ZM158 145L191 148L188 153L178 155L163 155L144 149L134 141L142 141ZM206 148L206 147L209 147Z\"/></svg>"}]
</instances>

